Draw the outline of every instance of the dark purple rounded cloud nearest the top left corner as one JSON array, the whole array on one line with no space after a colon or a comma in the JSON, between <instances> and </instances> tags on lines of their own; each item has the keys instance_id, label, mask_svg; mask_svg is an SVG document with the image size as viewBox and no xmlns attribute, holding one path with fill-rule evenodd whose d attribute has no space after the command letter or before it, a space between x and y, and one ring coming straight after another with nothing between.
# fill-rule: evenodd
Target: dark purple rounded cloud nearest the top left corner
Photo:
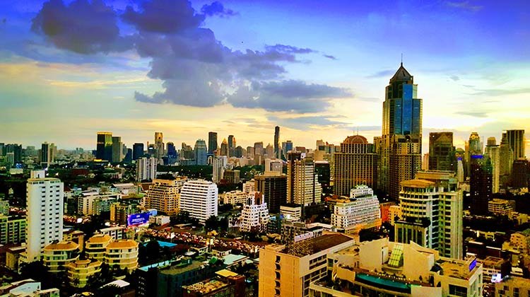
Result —
<instances>
[{"instance_id":1,"label":"dark purple rounded cloud nearest the top left corner","mask_svg":"<svg viewBox=\"0 0 530 297\"><path fill-rule=\"evenodd\" d=\"M61 0L47 1L33 18L31 28L56 47L79 54L131 47L130 40L119 36L114 10L101 0L76 0L69 6Z\"/></svg>"}]
</instances>

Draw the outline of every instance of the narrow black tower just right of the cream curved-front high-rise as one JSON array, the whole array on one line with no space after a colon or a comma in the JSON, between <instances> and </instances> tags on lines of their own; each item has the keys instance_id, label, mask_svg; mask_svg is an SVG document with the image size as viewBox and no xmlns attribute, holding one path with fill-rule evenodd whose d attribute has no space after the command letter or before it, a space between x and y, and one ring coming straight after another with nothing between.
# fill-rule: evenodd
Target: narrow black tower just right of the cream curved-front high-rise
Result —
<instances>
[{"instance_id":1,"label":"narrow black tower just right of the cream curved-front high-rise","mask_svg":"<svg viewBox=\"0 0 530 297\"><path fill-rule=\"evenodd\" d=\"M471 214L485 216L492 193L493 168L488 156L471 155L470 163Z\"/></svg>"}]
</instances>

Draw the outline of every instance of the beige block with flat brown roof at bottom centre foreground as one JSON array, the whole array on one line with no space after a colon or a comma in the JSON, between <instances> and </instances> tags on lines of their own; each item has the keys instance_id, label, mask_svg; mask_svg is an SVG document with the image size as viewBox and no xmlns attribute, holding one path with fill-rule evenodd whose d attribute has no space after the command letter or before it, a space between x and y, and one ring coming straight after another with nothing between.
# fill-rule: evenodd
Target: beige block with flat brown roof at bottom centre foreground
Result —
<instances>
[{"instance_id":1,"label":"beige block with flat brown roof at bottom centre foreground","mask_svg":"<svg viewBox=\"0 0 530 297\"><path fill-rule=\"evenodd\" d=\"M326 255L353 245L346 235L331 233L293 245L266 245L259 250L259 296L310 296L312 281L328 273Z\"/></svg>"}]
</instances>

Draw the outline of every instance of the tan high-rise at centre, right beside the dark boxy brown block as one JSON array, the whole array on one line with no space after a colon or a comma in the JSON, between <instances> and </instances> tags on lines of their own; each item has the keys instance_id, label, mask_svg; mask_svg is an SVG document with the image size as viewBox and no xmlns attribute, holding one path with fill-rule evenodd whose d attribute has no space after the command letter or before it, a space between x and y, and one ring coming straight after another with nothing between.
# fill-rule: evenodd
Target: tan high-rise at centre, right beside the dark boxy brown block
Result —
<instances>
[{"instance_id":1,"label":"tan high-rise at centre, right beside the dark boxy brown block","mask_svg":"<svg viewBox=\"0 0 530 297\"><path fill-rule=\"evenodd\" d=\"M287 170L290 173L288 177L292 176L293 178L291 188L288 189L291 198L290 203L307 206L322 201L322 186L318 182L312 158L303 158L288 163Z\"/></svg>"}]
</instances>

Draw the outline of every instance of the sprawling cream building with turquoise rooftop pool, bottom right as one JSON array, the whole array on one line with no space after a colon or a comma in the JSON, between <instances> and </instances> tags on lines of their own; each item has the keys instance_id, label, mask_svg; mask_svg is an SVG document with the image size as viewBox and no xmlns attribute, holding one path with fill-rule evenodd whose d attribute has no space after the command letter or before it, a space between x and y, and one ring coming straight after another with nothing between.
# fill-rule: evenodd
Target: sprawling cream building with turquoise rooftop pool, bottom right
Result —
<instances>
[{"instance_id":1,"label":"sprawling cream building with turquoise rooftop pool, bottom right","mask_svg":"<svg viewBox=\"0 0 530 297\"><path fill-rule=\"evenodd\" d=\"M483 296L476 258L441 257L416 243L364 241L324 260L329 274L310 283L310 296Z\"/></svg>"}]
</instances>

